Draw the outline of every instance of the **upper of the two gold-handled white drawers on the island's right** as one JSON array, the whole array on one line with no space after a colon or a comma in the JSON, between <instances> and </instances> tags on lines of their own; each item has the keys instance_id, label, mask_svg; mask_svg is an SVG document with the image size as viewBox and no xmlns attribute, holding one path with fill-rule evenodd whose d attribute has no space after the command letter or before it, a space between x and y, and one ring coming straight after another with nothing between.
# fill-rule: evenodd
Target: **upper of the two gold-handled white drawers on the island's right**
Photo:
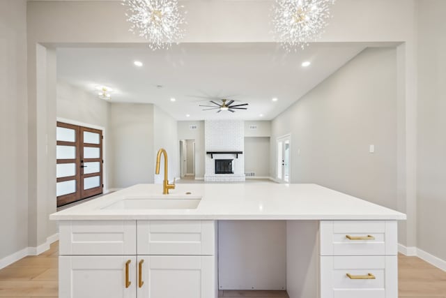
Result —
<instances>
[{"instance_id":1,"label":"upper of the two gold-handled white drawers on the island's right","mask_svg":"<svg viewBox=\"0 0 446 298\"><path fill-rule=\"evenodd\" d=\"M321 221L319 234L321 255L397 255L397 221Z\"/></svg>"}]
</instances>

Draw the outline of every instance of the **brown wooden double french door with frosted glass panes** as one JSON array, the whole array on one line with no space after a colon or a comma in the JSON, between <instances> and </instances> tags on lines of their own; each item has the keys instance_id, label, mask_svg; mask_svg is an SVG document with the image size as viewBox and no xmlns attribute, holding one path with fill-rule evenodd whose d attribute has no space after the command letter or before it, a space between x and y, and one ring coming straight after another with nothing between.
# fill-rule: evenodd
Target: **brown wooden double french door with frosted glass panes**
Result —
<instances>
[{"instance_id":1,"label":"brown wooden double french door with frosted glass panes","mask_svg":"<svg viewBox=\"0 0 446 298\"><path fill-rule=\"evenodd\" d=\"M102 193L102 131L57 122L57 207Z\"/></svg>"}]
</instances>

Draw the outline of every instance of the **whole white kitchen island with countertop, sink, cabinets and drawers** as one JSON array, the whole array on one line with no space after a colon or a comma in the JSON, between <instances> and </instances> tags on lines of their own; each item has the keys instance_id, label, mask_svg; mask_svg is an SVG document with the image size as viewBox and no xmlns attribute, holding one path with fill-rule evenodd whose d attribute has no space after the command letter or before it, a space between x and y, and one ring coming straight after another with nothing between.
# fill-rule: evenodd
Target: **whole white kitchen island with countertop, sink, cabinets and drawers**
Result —
<instances>
[{"instance_id":1,"label":"whole white kitchen island with countertop, sink, cabinets and drawers","mask_svg":"<svg viewBox=\"0 0 446 298\"><path fill-rule=\"evenodd\" d=\"M286 223L290 298L397 298L406 216L316 184L139 184L50 218L59 298L216 298L224 221Z\"/></svg>"}]
</instances>

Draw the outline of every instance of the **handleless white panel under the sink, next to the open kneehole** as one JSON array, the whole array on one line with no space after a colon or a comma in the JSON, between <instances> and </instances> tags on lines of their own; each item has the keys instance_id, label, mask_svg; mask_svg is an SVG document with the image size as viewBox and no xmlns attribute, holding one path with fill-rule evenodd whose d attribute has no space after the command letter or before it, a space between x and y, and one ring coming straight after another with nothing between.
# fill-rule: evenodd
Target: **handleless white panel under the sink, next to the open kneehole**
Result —
<instances>
[{"instance_id":1,"label":"handleless white panel under the sink, next to the open kneehole","mask_svg":"<svg viewBox=\"0 0 446 298\"><path fill-rule=\"evenodd\" d=\"M138 221L139 255L215 255L215 221Z\"/></svg>"}]
</instances>

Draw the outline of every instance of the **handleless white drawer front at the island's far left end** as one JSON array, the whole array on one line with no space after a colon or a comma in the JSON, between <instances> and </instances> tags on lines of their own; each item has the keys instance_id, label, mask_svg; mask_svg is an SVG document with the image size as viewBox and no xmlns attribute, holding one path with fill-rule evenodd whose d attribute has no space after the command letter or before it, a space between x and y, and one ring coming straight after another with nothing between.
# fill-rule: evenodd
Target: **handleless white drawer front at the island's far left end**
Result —
<instances>
[{"instance_id":1,"label":"handleless white drawer front at the island's far left end","mask_svg":"<svg viewBox=\"0 0 446 298\"><path fill-rule=\"evenodd\" d=\"M61 221L60 255L136 255L136 221Z\"/></svg>"}]
</instances>

